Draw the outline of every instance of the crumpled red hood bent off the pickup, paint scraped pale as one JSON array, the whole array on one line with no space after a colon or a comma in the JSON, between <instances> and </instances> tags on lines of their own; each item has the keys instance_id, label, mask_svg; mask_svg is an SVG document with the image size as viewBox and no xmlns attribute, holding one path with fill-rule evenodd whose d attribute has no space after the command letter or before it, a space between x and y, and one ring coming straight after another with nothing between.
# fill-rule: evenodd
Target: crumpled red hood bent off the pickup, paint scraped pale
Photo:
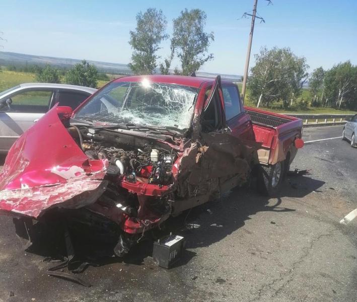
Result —
<instances>
[{"instance_id":1,"label":"crumpled red hood bent off the pickup, paint scraped pale","mask_svg":"<svg viewBox=\"0 0 357 302\"><path fill-rule=\"evenodd\" d=\"M77 208L93 203L94 197L104 192L107 160L87 158L62 124L56 108L11 147L0 174L0 210L37 218L58 203Z\"/></svg>"}]
</instances>

